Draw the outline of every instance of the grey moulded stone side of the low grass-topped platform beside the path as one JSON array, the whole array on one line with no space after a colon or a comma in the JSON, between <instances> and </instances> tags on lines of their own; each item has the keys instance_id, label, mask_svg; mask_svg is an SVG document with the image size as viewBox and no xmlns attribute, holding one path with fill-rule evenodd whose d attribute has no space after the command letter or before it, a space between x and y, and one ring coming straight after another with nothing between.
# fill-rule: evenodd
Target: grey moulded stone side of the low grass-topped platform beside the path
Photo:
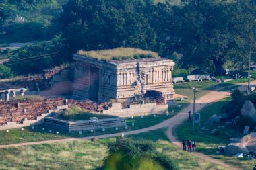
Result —
<instances>
[{"instance_id":1,"label":"grey moulded stone side of the low grass-topped platform beside the path","mask_svg":"<svg viewBox=\"0 0 256 170\"><path fill-rule=\"evenodd\" d=\"M46 118L44 125L55 130L63 130L66 132L75 132L79 130L93 130L102 128L117 128L126 126L124 118L107 118L101 119L97 124L93 124L92 120L79 120L68 122L57 118Z\"/></svg>"}]
</instances>

